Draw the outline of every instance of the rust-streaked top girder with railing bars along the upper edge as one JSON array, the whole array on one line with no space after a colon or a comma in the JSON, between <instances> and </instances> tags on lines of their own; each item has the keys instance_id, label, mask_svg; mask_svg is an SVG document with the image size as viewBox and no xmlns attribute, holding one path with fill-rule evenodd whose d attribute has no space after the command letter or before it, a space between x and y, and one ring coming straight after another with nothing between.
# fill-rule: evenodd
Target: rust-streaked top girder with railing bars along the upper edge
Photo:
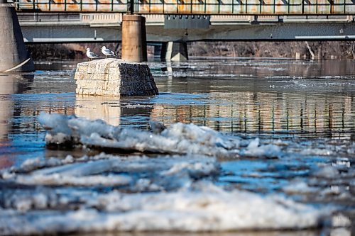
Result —
<instances>
[{"instance_id":1,"label":"rust-streaked top girder with railing bars along the upper edge","mask_svg":"<svg viewBox=\"0 0 355 236\"><path fill-rule=\"evenodd\" d=\"M355 0L14 0L13 4L18 11L131 11L182 15L355 14Z\"/></svg>"}]
</instances>

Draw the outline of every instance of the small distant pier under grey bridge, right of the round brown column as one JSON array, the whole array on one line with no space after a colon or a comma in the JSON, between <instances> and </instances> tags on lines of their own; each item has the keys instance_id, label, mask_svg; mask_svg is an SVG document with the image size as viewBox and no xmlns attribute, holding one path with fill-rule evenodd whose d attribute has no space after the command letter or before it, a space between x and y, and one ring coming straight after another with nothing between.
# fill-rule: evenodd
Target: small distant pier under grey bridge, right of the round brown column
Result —
<instances>
[{"instance_id":1,"label":"small distant pier under grey bridge, right of the round brown column","mask_svg":"<svg viewBox=\"0 0 355 236\"><path fill-rule=\"evenodd\" d=\"M168 42L163 43L161 50L162 60L173 61L173 62L184 62L189 60L187 54L187 43L186 42Z\"/></svg>"}]
</instances>

